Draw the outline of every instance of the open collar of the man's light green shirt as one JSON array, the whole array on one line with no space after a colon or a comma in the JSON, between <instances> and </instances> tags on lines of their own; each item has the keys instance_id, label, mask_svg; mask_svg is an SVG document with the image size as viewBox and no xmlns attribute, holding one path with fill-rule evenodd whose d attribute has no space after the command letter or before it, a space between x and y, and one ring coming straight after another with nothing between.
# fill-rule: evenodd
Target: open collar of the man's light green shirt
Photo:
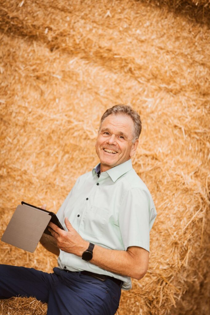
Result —
<instances>
[{"instance_id":1,"label":"open collar of the man's light green shirt","mask_svg":"<svg viewBox=\"0 0 210 315\"><path fill-rule=\"evenodd\" d=\"M119 164L115 167L112 167L111 169L108 169L106 173L111 177L111 180L115 182L120 176L127 173L132 168L133 168L132 162L131 162L131 159L129 159L128 161L122 164ZM100 169L100 163L98 163L92 170L93 176L99 171L99 169Z\"/></svg>"}]
</instances>

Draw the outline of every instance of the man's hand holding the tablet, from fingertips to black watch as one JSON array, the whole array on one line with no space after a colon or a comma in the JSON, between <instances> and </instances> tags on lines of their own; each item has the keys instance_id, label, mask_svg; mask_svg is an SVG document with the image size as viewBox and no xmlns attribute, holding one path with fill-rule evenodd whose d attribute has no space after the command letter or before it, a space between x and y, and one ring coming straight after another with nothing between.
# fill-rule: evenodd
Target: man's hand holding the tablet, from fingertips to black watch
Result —
<instances>
[{"instance_id":1,"label":"man's hand holding the tablet, from fingertips to black watch","mask_svg":"<svg viewBox=\"0 0 210 315\"><path fill-rule=\"evenodd\" d=\"M73 228L68 218L65 218L65 226L68 232L61 230L60 227L52 222L48 224L52 236L57 241L57 246L66 253L82 256L82 253L88 248L89 242L85 241L79 233Z\"/></svg>"}]
</instances>

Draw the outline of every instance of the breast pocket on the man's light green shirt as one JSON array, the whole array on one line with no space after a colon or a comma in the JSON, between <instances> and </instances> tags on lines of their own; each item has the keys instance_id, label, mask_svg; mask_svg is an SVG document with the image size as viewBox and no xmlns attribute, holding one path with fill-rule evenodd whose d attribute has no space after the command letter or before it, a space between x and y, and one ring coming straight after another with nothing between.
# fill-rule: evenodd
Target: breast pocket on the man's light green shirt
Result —
<instances>
[{"instance_id":1,"label":"breast pocket on the man's light green shirt","mask_svg":"<svg viewBox=\"0 0 210 315\"><path fill-rule=\"evenodd\" d=\"M91 206L82 216L79 231L88 236L102 237L108 215L108 210Z\"/></svg>"}]
</instances>

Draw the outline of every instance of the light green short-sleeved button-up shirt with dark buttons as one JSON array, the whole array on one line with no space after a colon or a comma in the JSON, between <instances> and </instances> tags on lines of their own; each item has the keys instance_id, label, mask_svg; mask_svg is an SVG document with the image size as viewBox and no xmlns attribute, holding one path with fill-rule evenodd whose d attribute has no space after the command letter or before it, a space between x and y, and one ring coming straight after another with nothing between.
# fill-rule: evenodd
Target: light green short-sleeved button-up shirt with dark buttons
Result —
<instances>
[{"instance_id":1,"label":"light green short-sleeved button-up shirt with dark buttons","mask_svg":"<svg viewBox=\"0 0 210 315\"><path fill-rule=\"evenodd\" d=\"M60 223L67 231L64 223L67 217L83 239L104 248L127 250L129 246L139 246L149 251L150 229L157 213L150 192L134 171L131 160L102 172L99 178L98 169L100 164L77 179L57 213ZM129 277L62 250L58 266L109 275L123 281L122 289L132 287Z\"/></svg>"}]
</instances>

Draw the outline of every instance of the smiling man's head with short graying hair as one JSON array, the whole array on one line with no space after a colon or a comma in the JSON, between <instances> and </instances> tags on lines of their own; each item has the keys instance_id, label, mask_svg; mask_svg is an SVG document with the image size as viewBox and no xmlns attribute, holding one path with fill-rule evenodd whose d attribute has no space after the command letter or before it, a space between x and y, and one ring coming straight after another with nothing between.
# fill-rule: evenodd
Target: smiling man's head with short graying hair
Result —
<instances>
[{"instance_id":1,"label":"smiling man's head with short graying hair","mask_svg":"<svg viewBox=\"0 0 210 315\"><path fill-rule=\"evenodd\" d=\"M130 106L115 105L101 117L96 152L101 171L122 164L132 157L139 143L141 119Z\"/></svg>"}]
</instances>

